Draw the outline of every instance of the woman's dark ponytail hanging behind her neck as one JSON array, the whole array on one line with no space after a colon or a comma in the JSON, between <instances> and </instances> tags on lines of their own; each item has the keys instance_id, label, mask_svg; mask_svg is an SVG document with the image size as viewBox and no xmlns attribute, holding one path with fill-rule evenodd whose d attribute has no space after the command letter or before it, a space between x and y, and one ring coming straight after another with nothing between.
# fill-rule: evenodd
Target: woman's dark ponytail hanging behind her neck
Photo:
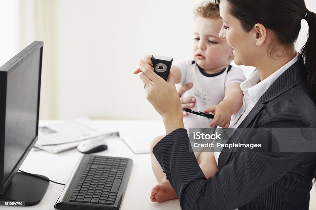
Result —
<instances>
[{"instance_id":1,"label":"woman's dark ponytail hanging behind her neck","mask_svg":"<svg viewBox=\"0 0 316 210\"><path fill-rule=\"evenodd\" d=\"M316 102L316 14L307 10L303 19L307 21L309 28L307 42L301 50L306 66L304 76L307 87Z\"/></svg>"}]
</instances>

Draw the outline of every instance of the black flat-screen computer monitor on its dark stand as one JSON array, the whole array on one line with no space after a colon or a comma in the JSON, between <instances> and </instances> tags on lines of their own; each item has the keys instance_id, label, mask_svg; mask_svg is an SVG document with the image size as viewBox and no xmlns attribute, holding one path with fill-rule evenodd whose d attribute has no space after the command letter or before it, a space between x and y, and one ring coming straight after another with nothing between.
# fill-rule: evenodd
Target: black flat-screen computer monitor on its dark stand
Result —
<instances>
[{"instance_id":1,"label":"black flat-screen computer monitor on its dark stand","mask_svg":"<svg viewBox=\"0 0 316 210\"><path fill-rule=\"evenodd\" d=\"M0 67L0 201L33 205L48 186L17 172L38 138L42 54L35 41Z\"/></svg>"}]
</instances>

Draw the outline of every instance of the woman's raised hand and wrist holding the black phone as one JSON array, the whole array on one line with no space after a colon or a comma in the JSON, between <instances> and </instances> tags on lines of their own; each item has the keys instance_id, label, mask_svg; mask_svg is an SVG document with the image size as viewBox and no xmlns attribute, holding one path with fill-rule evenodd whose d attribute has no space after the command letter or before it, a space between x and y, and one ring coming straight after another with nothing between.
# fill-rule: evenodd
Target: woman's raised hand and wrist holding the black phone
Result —
<instances>
[{"instance_id":1,"label":"woman's raised hand and wrist holding the black phone","mask_svg":"<svg viewBox=\"0 0 316 210\"><path fill-rule=\"evenodd\" d=\"M172 73L169 74L168 82L166 82L142 59L139 60L139 69L142 71L139 77L144 83L147 100L162 116L166 129L173 123L175 127L183 127L181 102Z\"/></svg>"}]
</instances>

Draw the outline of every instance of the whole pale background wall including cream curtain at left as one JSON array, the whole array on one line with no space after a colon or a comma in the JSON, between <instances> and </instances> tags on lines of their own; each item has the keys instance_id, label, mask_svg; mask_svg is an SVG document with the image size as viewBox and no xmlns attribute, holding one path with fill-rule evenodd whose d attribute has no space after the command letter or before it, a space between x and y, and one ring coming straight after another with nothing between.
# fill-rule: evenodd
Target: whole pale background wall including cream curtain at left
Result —
<instances>
[{"instance_id":1,"label":"whole pale background wall including cream curtain at left","mask_svg":"<svg viewBox=\"0 0 316 210\"><path fill-rule=\"evenodd\" d=\"M11 29L1 35L0 64L44 41L41 119L160 119L132 72L145 54L191 57L193 9L201 2L3 0L1 21Z\"/></svg>"}]
</instances>

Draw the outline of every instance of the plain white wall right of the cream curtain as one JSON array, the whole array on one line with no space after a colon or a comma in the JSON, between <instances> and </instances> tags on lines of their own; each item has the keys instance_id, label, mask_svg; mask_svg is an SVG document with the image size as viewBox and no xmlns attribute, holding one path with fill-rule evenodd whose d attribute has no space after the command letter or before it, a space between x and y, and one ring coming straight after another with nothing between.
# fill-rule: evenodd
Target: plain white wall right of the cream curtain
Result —
<instances>
[{"instance_id":1,"label":"plain white wall right of the cream curtain","mask_svg":"<svg viewBox=\"0 0 316 210\"><path fill-rule=\"evenodd\" d=\"M145 54L191 55L198 3L58 1L56 117L159 119L133 71Z\"/></svg>"}]
</instances>

